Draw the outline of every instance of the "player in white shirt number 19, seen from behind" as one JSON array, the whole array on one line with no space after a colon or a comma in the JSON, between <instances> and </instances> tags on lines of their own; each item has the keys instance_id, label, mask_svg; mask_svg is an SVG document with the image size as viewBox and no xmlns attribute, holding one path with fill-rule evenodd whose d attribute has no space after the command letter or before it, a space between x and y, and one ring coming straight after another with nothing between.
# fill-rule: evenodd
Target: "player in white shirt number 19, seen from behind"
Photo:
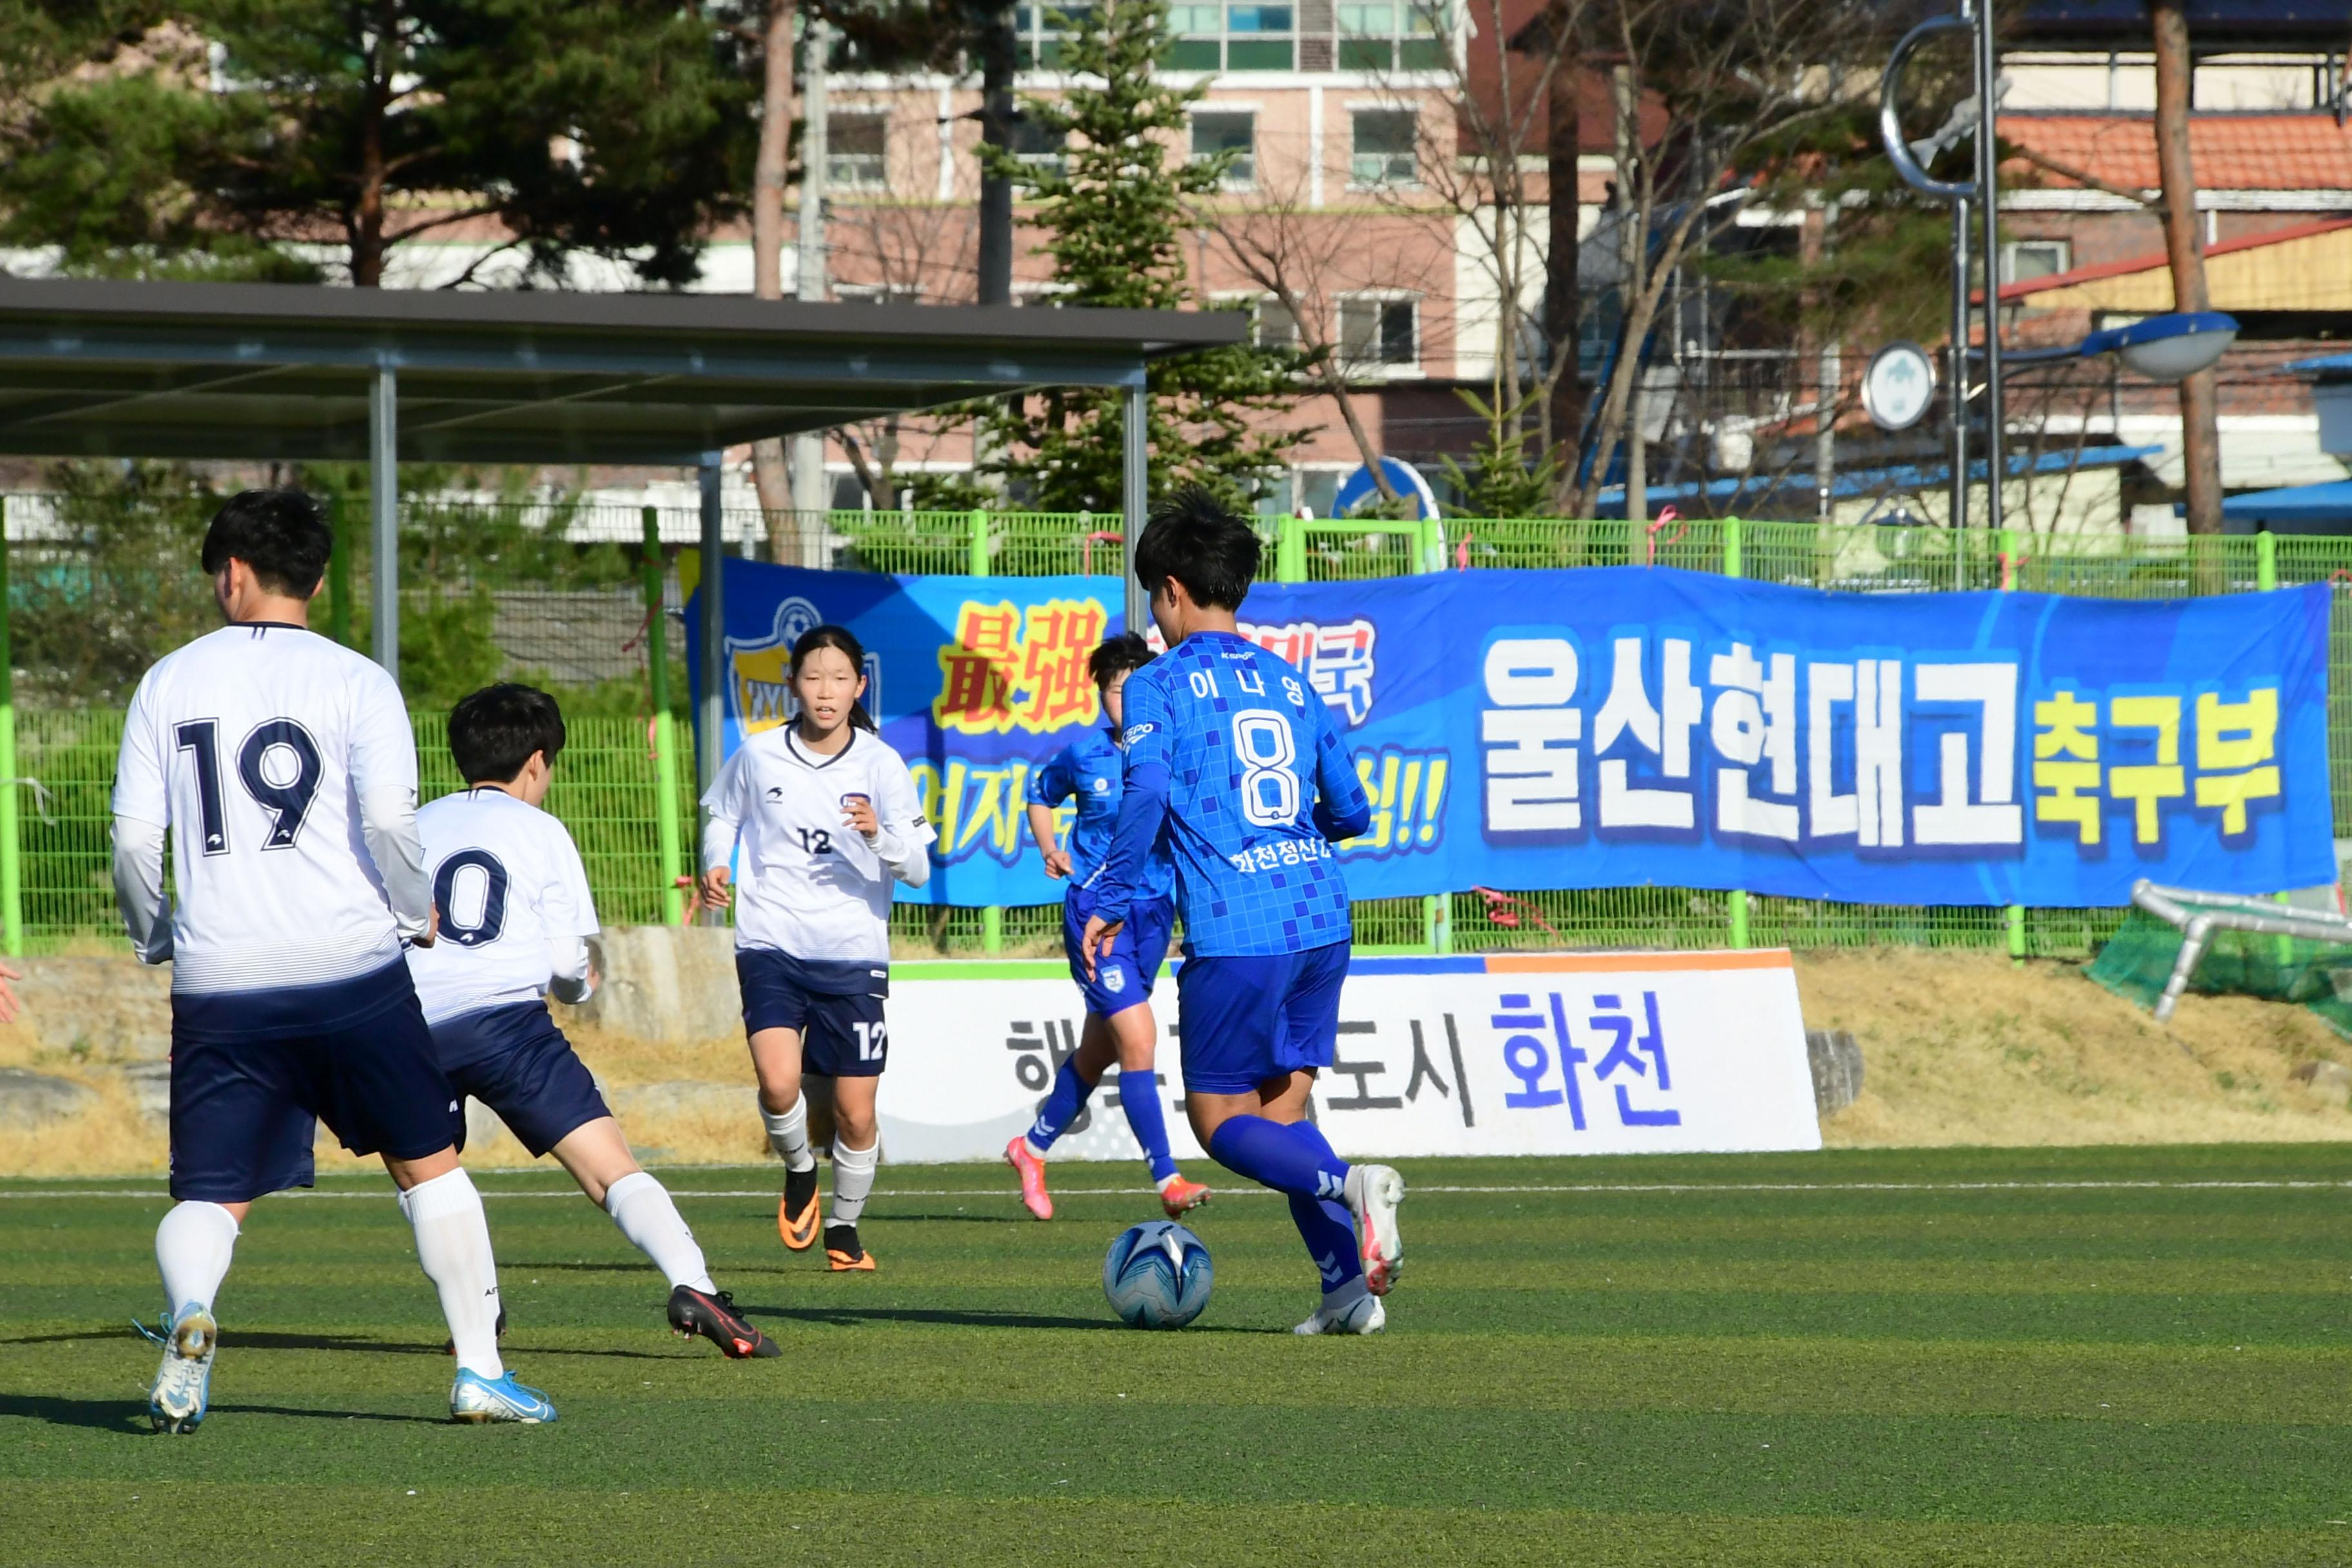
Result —
<instances>
[{"instance_id":1,"label":"player in white shirt number 19, seen from behind","mask_svg":"<svg viewBox=\"0 0 2352 1568\"><path fill-rule=\"evenodd\" d=\"M449 1415L550 1422L499 1359L489 1225L402 959L433 943L409 715L390 675L306 630L329 550L301 491L233 496L202 555L228 625L148 670L122 724L115 898L139 957L172 964L179 1201L155 1229L167 1316L148 1415L162 1432L205 1420L238 1229L254 1199L310 1185L322 1119L400 1187L456 1347Z\"/></svg>"}]
</instances>

